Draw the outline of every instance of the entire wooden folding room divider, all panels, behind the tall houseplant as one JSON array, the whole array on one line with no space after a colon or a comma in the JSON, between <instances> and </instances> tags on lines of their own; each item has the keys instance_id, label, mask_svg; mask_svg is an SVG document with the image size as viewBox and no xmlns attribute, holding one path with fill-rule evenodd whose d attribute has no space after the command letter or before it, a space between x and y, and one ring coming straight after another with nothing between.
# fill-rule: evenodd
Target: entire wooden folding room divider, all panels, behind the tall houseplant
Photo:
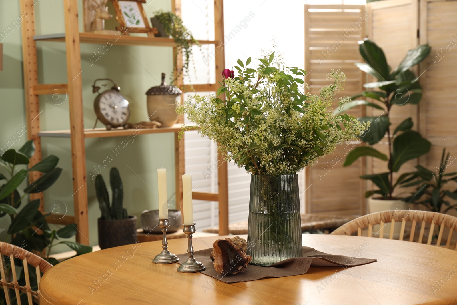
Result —
<instances>
[{"instance_id":1,"label":"entire wooden folding room divider, all panels, behind the tall houseplant","mask_svg":"<svg viewBox=\"0 0 457 305\"><path fill-rule=\"evenodd\" d=\"M395 128L405 118L412 118L413 129L428 139L430 153L407 162L395 177L407 171L415 171L420 164L436 170L443 147L451 153L451 164L446 171L457 171L457 121L454 119L457 77L457 11L456 0L382 0L365 5L305 5L305 70L310 92L316 93L326 83L325 73L341 67L348 76L342 95L351 96L363 90L362 84L372 81L355 67L362 61L357 41L368 37L383 48L388 63L395 68L408 50L428 43L431 52L419 66L412 68L419 77L423 97L418 105L402 105L392 108L390 118ZM356 23L359 16L364 22ZM351 29L352 27L352 29ZM344 41L344 42L343 42ZM339 43L338 43L339 42ZM381 115L380 110L365 106L353 108L348 113L355 117ZM387 137L387 135L385 136ZM352 146L351 146L352 147ZM388 141L382 140L374 147L386 152ZM384 161L372 157L359 159L353 166L342 167L345 147L306 169L306 211L323 213L335 211L341 214L366 214L364 191L372 183L358 177L364 173L386 171ZM338 156L342 159L341 161ZM329 192L329 187L332 192ZM401 189L396 192L408 192ZM453 190L453 189L452 189ZM451 200L455 203L455 200Z\"/></svg>"}]
</instances>

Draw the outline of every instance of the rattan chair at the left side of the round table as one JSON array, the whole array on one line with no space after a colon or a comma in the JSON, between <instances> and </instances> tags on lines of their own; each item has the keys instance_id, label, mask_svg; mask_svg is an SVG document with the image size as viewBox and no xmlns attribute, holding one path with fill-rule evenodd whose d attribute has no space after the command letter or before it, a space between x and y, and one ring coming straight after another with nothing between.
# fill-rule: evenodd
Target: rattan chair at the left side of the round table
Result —
<instances>
[{"instance_id":1,"label":"rattan chair at the left side of the round table","mask_svg":"<svg viewBox=\"0 0 457 305\"><path fill-rule=\"evenodd\" d=\"M0 259L1 259L0 284L1 284L1 286L3 286L3 291L5 292L6 304L7 305L11 304L8 288L15 290L17 304L21 305L19 291L22 291L27 294L27 299L28 299L29 305L32 305L32 296L35 298L35 300L34 300L35 303L37 303L38 299L39 299L39 292L33 291L32 288L30 287L30 278L29 278L29 271L28 271L27 264L32 265L36 269L38 287L40 285L41 273L45 273L51 267L53 267L53 265L46 262L43 258L33 254L32 252L29 252L27 250L24 250L21 247L14 246L14 245L8 244L6 242L2 242L2 241L0 241L0 254L1 254L0 255ZM12 282L7 282L7 278L5 276L5 267L6 266L5 266L5 260L3 259L3 256L10 257L11 272L12 272L12 278L13 278ZM19 284L17 283L17 274L16 274L16 268L15 268L13 258L18 258L18 259L22 260L22 263L24 266L26 286L19 286Z\"/></svg>"}]
</instances>

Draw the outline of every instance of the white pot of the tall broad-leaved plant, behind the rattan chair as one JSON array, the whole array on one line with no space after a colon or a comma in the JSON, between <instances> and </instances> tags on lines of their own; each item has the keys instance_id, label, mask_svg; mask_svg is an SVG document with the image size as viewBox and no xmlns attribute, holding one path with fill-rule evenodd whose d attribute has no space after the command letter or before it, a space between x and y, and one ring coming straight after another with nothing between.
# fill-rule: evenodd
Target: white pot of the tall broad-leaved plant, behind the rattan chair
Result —
<instances>
[{"instance_id":1,"label":"white pot of the tall broad-leaved plant, behind the rattan chair","mask_svg":"<svg viewBox=\"0 0 457 305\"><path fill-rule=\"evenodd\" d=\"M382 212L388 210L398 210L404 209L408 210L409 206L408 203L404 202L403 200L384 200L384 199L376 199L376 198L368 198L368 213L375 213L375 212ZM391 224L385 224L383 230L383 238L389 238L390 236L390 228ZM380 225L373 225L372 236L379 237L381 230ZM400 230L401 230L401 222L395 222L395 226L393 228L393 239L399 239L400 237ZM409 235L409 231L404 232L404 238Z\"/></svg>"}]
</instances>

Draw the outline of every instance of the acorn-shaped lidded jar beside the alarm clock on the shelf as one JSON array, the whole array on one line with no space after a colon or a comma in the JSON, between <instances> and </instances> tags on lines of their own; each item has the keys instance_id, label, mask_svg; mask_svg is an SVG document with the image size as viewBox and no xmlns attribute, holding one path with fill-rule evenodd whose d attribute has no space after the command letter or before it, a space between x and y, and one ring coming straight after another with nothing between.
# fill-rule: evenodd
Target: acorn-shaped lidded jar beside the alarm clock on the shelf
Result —
<instances>
[{"instance_id":1,"label":"acorn-shaped lidded jar beside the alarm clock on the shelf","mask_svg":"<svg viewBox=\"0 0 457 305\"><path fill-rule=\"evenodd\" d=\"M170 127L178 120L176 106L181 98L181 90L176 86L165 84L165 73L162 73L160 86L149 88L146 92L149 119Z\"/></svg>"}]
</instances>

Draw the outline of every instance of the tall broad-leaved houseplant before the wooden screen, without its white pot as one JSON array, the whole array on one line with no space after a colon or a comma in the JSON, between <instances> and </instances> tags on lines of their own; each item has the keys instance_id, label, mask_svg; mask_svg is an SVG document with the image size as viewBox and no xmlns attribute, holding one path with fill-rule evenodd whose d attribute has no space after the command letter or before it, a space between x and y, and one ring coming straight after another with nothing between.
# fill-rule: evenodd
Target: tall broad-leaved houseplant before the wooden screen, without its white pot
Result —
<instances>
[{"instance_id":1,"label":"tall broad-leaved houseplant before the wooden screen, without its white pot","mask_svg":"<svg viewBox=\"0 0 457 305\"><path fill-rule=\"evenodd\" d=\"M361 178L371 180L378 188L367 191L365 197L377 194L383 199L392 200L395 199L393 195L395 187L408 177L405 174L400 175L394 182L393 173L398 172L405 162L418 158L430 150L430 142L422 138L418 132L411 130L413 127L411 118L406 118L395 129L391 127L390 122L393 107L420 102L422 87L410 69L428 56L430 47L425 44L409 50L393 71L387 64L382 48L378 47L376 43L366 39L360 43L359 50L366 63L356 63L356 66L374 76L377 81L363 85L367 91L352 96L352 101L343 105L337 112L340 113L358 105L383 110L379 116L359 118L361 122L371 123L370 129L359 137L362 141L374 145L387 135L388 155L371 146L356 147L346 156L344 166L351 165L361 156L372 156L387 161L386 172L363 175ZM356 100L361 96L371 98L372 102Z\"/></svg>"}]
</instances>

